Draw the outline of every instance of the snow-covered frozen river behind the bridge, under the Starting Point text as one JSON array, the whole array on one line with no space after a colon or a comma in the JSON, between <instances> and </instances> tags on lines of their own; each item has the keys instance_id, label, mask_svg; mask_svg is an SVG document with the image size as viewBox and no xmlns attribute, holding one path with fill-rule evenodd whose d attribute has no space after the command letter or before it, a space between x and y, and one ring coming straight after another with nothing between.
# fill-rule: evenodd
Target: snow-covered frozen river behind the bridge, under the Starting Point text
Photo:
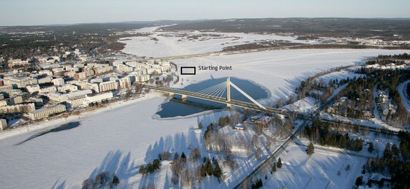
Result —
<instances>
[{"instance_id":1,"label":"snow-covered frozen river behind the bridge, under the Starting Point text","mask_svg":"<svg viewBox=\"0 0 410 189\"><path fill-rule=\"evenodd\" d=\"M271 99L262 102L269 104L276 99L289 97L301 80L336 66L354 65L367 57L392 55L409 50L273 50L246 54L224 55L218 57L196 57L175 59L178 66L232 66L232 71L199 71L195 76L181 76L184 87L189 83L210 78L233 76L252 80L266 87L272 94ZM347 73L336 73L346 78ZM188 81L187 81L188 80ZM183 84L183 85L181 85Z\"/></svg>"}]
</instances>

